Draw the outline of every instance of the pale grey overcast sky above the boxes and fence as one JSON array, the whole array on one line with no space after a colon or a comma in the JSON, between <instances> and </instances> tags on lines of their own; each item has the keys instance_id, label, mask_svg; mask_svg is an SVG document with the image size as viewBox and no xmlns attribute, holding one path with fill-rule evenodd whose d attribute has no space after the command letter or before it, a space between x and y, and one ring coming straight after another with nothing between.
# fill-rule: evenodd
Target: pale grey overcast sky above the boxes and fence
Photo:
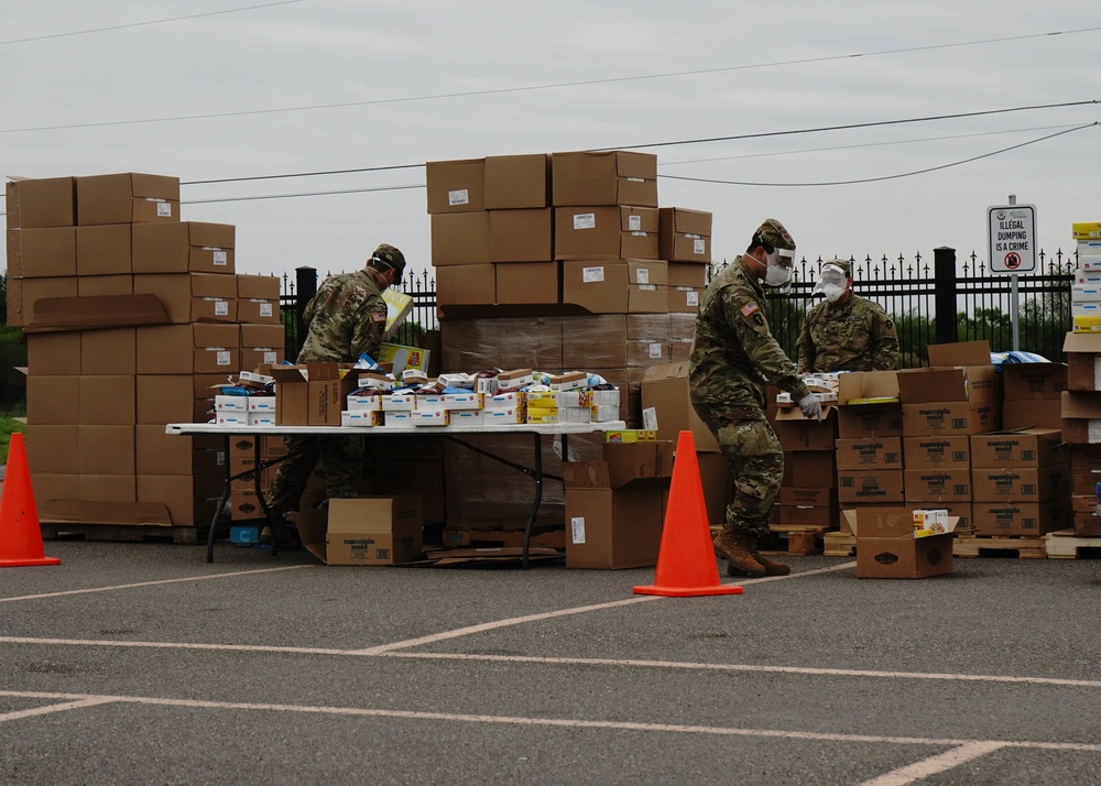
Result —
<instances>
[{"instance_id":1,"label":"pale grey overcast sky above the boxes and fence","mask_svg":"<svg viewBox=\"0 0 1101 786\"><path fill-rule=\"evenodd\" d=\"M985 259L1010 194L1047 252L1101 221L1097 0L0 8L0 174L413 165L184 185L184 220L237 226L243 273L351 270L379 242L427 269L426 161L658 143L658 199L713 214L716 259L768 216L809 259ZM903 122L1061 103L1079 106ZM360 193L204 201L341 190Z\"/></svg>"}]
</instances>

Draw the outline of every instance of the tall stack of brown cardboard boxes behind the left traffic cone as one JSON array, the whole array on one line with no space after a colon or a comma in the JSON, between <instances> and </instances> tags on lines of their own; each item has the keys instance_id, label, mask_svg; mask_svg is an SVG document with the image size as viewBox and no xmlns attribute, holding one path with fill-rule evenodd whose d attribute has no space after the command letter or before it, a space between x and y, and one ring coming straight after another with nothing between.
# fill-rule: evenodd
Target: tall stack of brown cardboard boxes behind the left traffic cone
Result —
<instances>
[{"instance_id":1,"label":"tall stack of brown cardboard boxes behind the left traffic cone","mask_svg":"<svg viewBox=\"0 0 1101 786\"><path fill-rule=\"evenodd\" d=\"M164 426L210 419L212 385L282 360L279 280L235 274L232 226L181 222L175 177L17 181L7 196L40 517L208 523L221 445Z\"/></svg>"}]
</instances>

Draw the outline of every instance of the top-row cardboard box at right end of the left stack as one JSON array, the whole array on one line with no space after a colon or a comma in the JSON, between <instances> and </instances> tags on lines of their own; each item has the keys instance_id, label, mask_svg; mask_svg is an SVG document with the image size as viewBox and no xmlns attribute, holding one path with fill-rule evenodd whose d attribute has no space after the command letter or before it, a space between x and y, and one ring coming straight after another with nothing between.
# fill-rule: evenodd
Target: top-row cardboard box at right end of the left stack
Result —
<instances>
[{"instance_id":1,"label":"top-row cardboard box at right end of the left stack","mask_svg":"<svg viewBox=\"0 0 1101 786\"><path fill-rule=\"evenodd\" d=\"M126 173L76 178L81 227L179 220L179 178Z\"/></svg>"}]
</instances>

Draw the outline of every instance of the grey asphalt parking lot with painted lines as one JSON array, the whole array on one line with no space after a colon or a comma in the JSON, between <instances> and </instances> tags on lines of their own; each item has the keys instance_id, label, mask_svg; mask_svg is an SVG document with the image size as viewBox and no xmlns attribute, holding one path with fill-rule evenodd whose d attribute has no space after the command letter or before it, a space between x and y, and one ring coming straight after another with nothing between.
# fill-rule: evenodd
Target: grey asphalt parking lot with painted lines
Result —
<instances>
[{"instance_id":1,"label":"grey asphalt parking lot with painted lines","mask_svg":"<svg viewBox=\"0 0 1101 786\"><path fill-rule=\"evenodd\" d=\"M45 549L0 568L4 784L1101 782L1093 559L793 557L654 598L653 569Z\"/></svg>"}]
</instances>

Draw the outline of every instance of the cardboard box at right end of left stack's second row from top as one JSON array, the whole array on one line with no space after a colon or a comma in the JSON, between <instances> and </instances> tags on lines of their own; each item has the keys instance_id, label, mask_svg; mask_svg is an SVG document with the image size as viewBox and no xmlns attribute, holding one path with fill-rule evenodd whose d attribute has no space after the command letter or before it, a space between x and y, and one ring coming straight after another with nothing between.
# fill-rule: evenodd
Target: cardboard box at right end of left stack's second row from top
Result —
<instances>
[{"instance_id":1,"label":"cardboard box at right end of left stack's second row from top","mask_svg":"<svg viewBox=\"0 0 1101 786\"><path fill-rule=\"evenodd\" d=\"M232 274L236 245L231 223L135 223L133 272Z\"/></svg>"}]
</instances>

